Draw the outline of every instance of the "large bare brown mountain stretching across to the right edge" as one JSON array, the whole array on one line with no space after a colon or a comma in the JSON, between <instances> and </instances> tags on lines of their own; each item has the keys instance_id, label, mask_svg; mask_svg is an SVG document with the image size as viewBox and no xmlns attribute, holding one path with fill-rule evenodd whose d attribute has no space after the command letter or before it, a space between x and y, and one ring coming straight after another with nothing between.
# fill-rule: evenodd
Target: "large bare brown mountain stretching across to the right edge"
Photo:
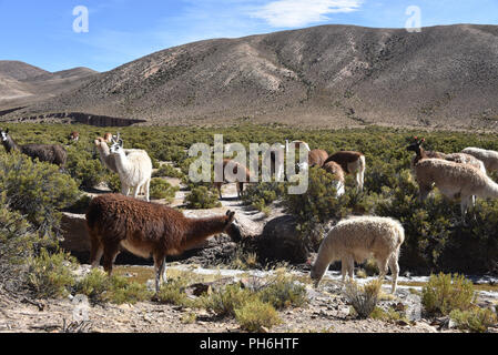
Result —
<instances>
[{"instance_id":1,"label":"large bare brown mountain stretching across to the right edge","mask_svg":"<svg viewBox=\"0 0 498 355\"><path fill-rule=\"evenodd\" d=\"M321 26L166 49L6 118L498 129L497 58L497 26Z\"/></svg>"}]
</instances>

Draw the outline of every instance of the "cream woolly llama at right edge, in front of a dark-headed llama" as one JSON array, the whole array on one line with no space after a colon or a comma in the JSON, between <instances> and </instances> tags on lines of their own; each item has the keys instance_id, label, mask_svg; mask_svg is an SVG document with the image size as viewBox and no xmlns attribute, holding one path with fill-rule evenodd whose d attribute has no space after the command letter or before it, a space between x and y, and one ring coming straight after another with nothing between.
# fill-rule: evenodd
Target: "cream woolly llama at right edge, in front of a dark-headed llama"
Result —
<instances>
[{"instance_id":1,"label":"cream woolly llama at right edge, in front of a dark-headed llama","mask_svg":"<svg viewBox=\"0 0 498 355\"><path fill-rule=\"evenodd\" d=\"M449 162L440 159L423 159L414 172L420 190L420 201L436 185L448 199L460 199L461 215L467 213L468 205L477 197L498 197L498 184L482 171L467 164Z\"/></svg>"}]
</instances>

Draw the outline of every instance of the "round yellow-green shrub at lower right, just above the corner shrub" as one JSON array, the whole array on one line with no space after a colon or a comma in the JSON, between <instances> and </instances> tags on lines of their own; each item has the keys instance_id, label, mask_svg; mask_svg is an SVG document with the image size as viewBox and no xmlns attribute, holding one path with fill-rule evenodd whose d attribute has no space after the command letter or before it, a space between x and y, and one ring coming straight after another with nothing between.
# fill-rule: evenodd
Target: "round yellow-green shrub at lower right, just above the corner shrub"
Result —
<instances>
[{"instance_id":1,"label":"round yellow-green shrub at lower right, just above the corner shrub","mask_svg":"<svg viewBox=\"0 0 498 355\"><path fill-rule=\"evenodd\" d=\"M454 310L467 311L475 300L474 285L464 275L430 275L421 290L421 304L429 315L448 315Z\"/></svg>"}]
</instances>

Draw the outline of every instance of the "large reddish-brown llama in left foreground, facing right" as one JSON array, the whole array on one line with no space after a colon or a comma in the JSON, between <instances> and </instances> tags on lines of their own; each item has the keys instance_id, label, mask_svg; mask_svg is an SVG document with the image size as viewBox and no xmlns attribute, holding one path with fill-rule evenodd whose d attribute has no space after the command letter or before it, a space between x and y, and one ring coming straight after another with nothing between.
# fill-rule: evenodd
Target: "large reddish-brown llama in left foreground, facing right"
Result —
<instances>
[{"instance_id":1,"label":"large reddish-brown llama in left foreground, facing right","mask_svg":"<svg viewBox=\"0 0 498 355\"><path fill-rule=\"evenodd\" d=\"M87 212L87 227L91 242L90 263L100 264L111 275L120 246L129 252L154 260L155 291L161 276L166 282L165 257L179 255L207 237L228 234L241 241L235 212L226 215L189 219L181 212L160 204L134 200L120 194L105 194L93 199Z\"/></svg>"}]
</instances>

